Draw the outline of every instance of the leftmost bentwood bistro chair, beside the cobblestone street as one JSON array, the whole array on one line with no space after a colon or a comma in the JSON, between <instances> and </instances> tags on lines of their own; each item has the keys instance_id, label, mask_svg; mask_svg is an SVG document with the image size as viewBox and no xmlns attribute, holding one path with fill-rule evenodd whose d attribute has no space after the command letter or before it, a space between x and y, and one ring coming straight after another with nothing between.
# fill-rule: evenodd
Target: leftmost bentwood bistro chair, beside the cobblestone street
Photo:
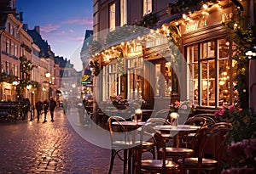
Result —
<instances>
[{"instance_id":1,"label":"leftmost bentwood bistro chair, beside the cobblestone street","mask_svg":"<svg viewBox=\"0 0 256 174\"><path fill-rule=\"evenodd\" d=\"M117 123L117 126L113 126L113 122ZM119 116L110 116L108 118L108 130L111 138L111 160L108 174L113 170L113 163L115 157L119 157L124 163L123 173L126 173L126 167L130 156L128 156L128 150L134 145L132 144L131 136L126 131L125 127L121 124L121 121L125 121L124 118Z\"/></svg>"}]
</instances>

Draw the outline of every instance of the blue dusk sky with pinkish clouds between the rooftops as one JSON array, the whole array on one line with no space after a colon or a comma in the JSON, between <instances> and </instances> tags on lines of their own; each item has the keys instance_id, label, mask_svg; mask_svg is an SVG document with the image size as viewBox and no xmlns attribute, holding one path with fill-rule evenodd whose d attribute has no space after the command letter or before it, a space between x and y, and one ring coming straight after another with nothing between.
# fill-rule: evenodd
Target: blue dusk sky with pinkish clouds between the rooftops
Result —
<instances>
[{"instance_id":1,"label":"blue dusk sky with pinkish clouds between the rooftops","mask_svg":"<svg viewBox=\"0 0 256 174\"><path fill-rule=\"evenodd\" d=\"M23 24L29 29L40 26L55 56L70 59L76 70L82 70L80 51L85 30L92 30L92 0L16 0L23 12Z\"/></svg>"}]
</instances>

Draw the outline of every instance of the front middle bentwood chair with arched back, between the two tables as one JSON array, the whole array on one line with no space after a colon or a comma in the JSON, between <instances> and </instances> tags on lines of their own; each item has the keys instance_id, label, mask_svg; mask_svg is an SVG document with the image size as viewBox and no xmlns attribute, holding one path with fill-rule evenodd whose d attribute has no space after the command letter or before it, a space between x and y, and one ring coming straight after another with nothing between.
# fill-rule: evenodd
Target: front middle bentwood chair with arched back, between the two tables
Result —
<instances>
[{"instance_id":1,"label":"front middle bentwood chair with arched back, between the two tables","mask_svg":"<svg viewBox=\"0 0 256 174\"><path fill-rule=\"evenodd\" d=\"M136 173L177 173L179 165L172 160L166 160L166 139L162 137L161 133L154 129L154 125L146 123L141 132L141 142L152 138L154 140L156 149L156 159L143 158L143 146L139 150L137 158L137 167L139 172Z\"/></svg>"}]
</instances>

